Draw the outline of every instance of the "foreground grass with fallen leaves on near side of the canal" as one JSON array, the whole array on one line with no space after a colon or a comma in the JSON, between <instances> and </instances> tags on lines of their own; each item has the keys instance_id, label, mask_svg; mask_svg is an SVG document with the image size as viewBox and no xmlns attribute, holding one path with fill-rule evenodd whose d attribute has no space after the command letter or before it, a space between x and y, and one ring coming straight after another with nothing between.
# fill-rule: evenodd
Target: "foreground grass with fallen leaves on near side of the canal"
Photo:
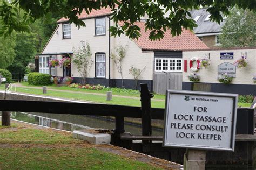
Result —
<instances>
[{"instance_id":1,"label":"foreground grass with fallen leaves on near side of the canal","mask_svg":"<svg viewBox=\"0 0 256 170\"><path fill-rule=\"evenodd\" d=\"M160 169L100 151L71 133L26 126L0 126L0 169Z\"/></svg>"}]
</instances>

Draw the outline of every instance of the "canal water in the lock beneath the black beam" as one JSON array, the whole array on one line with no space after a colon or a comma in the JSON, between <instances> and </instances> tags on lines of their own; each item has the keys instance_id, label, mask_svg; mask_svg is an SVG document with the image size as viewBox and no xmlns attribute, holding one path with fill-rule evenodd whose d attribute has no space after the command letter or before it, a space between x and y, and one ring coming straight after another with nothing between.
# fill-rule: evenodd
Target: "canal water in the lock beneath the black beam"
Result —
<instances>
[{"instance_id":1,"label":"canal water in the lock beneath the black beam","mask_svg":"<svg viewBox=\"0 0 256 170\"><path fill-rule=\"evenodd\" d=\"M66 131L115 128L114 120L97 116L11 112L11 118ZM125 132L130 132L134 135L142 134L140 125L125 123L124 128ZM152 129L152 135L162 134L163 130Z\"/></svg>"}]
</instances>

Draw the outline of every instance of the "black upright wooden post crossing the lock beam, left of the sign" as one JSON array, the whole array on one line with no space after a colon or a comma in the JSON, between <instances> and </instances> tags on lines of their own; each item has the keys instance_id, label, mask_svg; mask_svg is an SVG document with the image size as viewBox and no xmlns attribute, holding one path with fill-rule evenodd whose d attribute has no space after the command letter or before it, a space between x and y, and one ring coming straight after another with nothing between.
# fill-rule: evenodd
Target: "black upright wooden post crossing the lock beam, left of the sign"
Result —
<instances>
[{"instance_id":1,"label":"black upright wooden post crossing the lock beam, left of the sign","mask_svg":"<svg viewBox=\"0 0 256 170\"><path fill-rule=\"evenodd\" d=\"M151 136L151 98L150 91L147 88L147 83L140 83L140 101L142 104L142 135ZM150 141L142 141L142 151L150 152Z\"/></svg>"}]
</instances>

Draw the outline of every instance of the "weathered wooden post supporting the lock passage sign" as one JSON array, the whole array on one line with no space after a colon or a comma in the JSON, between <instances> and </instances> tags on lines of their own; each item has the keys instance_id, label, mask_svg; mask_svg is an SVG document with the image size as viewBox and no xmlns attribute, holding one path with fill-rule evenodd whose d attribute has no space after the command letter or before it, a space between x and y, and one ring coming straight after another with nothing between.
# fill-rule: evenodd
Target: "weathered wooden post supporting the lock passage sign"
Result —
<instances>
[{"instance_id":1,"label":"weathered wooden post supporting the lock passage sign","mask_svg":"<svg viewBox=\"0 0 256 170\"><path fill-rule=\"evenodd\" d=\"M192 91L211 91L211 85L206 83L192 83ZM203 170L205 169L206 151L187 149L184 154L185 170Z\"/></svg>"}]
</instances>

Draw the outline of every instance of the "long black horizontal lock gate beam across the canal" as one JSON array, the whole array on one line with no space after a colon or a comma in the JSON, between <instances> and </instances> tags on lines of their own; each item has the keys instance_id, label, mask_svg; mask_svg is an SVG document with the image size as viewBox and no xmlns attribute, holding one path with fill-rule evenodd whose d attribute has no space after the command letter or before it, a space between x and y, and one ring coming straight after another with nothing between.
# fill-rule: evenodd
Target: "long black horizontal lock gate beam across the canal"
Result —
<instances>
[{"instance_id":1,"label":"long black horizontal lock gate beam across the canal","mask_svg":"<svg viewBox=\"0 0 256 170\"><path fill-rule=\"evenodd\" d=\"M43 112L51 114L122 116L141 118L140 107L124 105L45 102L26 100L0 100L1 111ZM152 119L164 119L164 109L152 109Z\"/></svg>"}]
</instances>

